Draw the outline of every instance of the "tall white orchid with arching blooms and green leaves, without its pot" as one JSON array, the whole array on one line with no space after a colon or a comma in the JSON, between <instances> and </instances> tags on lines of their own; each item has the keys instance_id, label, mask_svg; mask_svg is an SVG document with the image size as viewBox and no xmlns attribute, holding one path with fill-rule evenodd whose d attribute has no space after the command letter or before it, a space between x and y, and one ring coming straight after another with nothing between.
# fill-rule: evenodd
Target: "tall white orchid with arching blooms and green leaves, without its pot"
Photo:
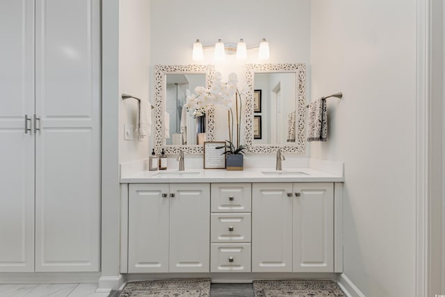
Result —
<instances>
[{"instance_id":1,"label":"tall white orchid with arching blooms and green leaves, without its pot","mask_svg":"<svg viewBox=\"0 0 445 297\"><path fill-rule=\"evenodd\" d=\"M241 111L242 111L242 100L241 95L245 95L245 90L243 88L238 88L238 77L235 73L229 74L229 80L223 82L223 76L220 72L216 72L215 81L213 81L211 88L204 88L198 86L195 88L195 93L191 94L187 90L187 100L186 109L188 113L194 118L202 116L205 111L211 106L220 105L227 109L227 117L229 120L229 140L225 146L228 150L225 154L242 154L245 150L245 145L240 145L240 133L241 127L239 123L241 122ZM235 109L236 109L236 146L234 145L234 112L232 111L233 98L235 97Z\"/></svg>"}]
</instances>

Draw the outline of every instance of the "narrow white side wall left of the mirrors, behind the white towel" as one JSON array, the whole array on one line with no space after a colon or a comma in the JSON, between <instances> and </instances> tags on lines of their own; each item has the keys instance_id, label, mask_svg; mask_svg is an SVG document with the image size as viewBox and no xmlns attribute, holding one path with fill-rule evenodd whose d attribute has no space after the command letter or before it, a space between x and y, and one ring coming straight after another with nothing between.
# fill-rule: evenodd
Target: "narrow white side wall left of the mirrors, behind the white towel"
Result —
<instances>
[{"instance_id":1,"label":"narrow white side wall left of the mirrors, behind the white towel","mask_svg":"<svg viewBox=\"0 0 445 297\"><path fill-rule=\"evenodd\" d=\"M119 7L119 93L149 101L149 1L120 0ZM124 123L136 128L138 103L120 100L119 161L135 161L149 156L149 138L124 141ZM106 116L106 115L104 115ZM154 117L152 117L154 120Z\"/></svg>"}]
</instances>

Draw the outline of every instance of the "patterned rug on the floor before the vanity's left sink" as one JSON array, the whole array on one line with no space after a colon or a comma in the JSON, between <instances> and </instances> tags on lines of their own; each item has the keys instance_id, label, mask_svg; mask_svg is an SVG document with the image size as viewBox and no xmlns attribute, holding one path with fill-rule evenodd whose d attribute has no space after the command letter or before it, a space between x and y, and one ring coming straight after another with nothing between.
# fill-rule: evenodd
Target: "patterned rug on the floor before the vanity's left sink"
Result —
<instances>
[{"instance_id":1,"label":"patterned rug on the floor before the vanity's left sink","mask_svg":"<svg viewBox=\"0 0 445 297\"><path fill-rule=\"evenodd\" d=\"M119 297L202 297L210 296L210 278L181 278L129 282Z\"/></svg>"}]
</instances>

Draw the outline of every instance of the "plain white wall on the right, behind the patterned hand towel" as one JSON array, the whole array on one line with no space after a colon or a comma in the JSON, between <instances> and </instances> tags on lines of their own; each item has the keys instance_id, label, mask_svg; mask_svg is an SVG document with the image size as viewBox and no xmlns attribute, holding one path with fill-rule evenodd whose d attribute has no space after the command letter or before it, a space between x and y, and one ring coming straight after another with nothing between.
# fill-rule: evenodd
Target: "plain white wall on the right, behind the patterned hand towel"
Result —
<instances>
[{"instance_id":1,"label":"plain white wall on the right, behind the patterned hand towel","mask_svg":"<svg viewBox=\"0 0 445 297\"><path fill-rule=\"evenodd\" d=\"M415 296L416 1L312 1L312 94L345 162L344 273L366 296Z\"/></svg>"}]
</instances>

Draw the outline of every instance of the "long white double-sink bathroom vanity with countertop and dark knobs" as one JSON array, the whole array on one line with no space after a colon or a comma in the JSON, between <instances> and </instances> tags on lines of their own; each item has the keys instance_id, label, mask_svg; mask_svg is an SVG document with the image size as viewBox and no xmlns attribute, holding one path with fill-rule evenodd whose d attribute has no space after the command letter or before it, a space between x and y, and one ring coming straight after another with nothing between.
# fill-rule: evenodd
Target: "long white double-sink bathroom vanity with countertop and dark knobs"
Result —
<instances>
[{"instance_id":1,"label":"long white double-sink bathroom vanity with countertop and dark knobs","mask_svg":"<svg viewBox=\"0 0 445 297\"><path fill-rule=\"evenodd\" d=\"M121 183L121 273L342 271L341 175L145 170Z\"/></svg>"}]
</instances>

